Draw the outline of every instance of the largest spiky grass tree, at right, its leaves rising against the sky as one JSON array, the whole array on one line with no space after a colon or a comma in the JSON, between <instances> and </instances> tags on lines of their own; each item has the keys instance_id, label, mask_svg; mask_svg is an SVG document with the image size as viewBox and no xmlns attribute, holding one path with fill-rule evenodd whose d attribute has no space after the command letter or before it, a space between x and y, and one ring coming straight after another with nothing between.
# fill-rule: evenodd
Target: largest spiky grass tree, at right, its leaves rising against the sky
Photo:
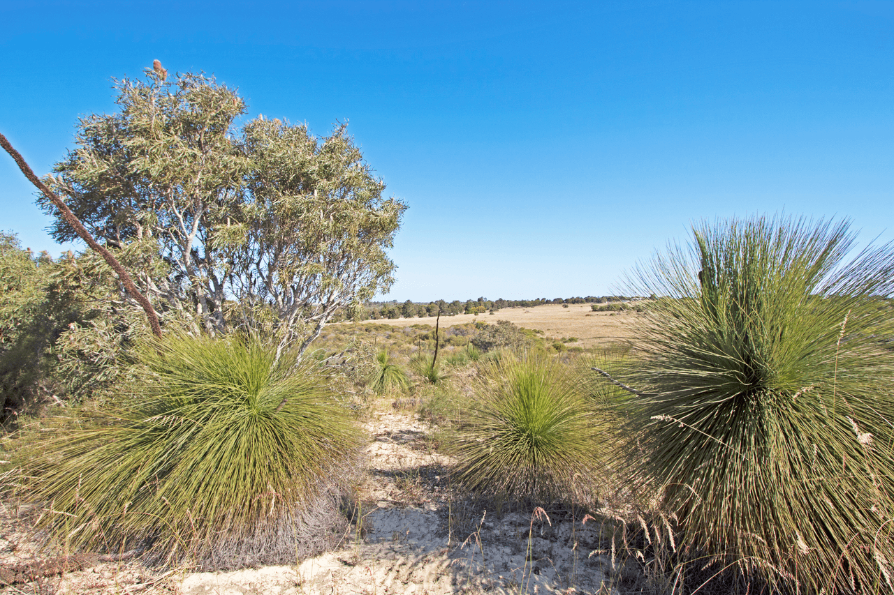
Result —
<instances>
[{"instance_id":1,"label":"largest spiky grass tree, at right, its leaves rising against the sky","mask_svg":"<svg viewBox=\"0 0 894 595\"><path fill-rule=\"evenodd\" d=\"M632 327L630 468L714 568L890 592L894 247L849 257L848 222L790 217L693 231L631 275L661 298Z\"/></svg>"}]
</instances>

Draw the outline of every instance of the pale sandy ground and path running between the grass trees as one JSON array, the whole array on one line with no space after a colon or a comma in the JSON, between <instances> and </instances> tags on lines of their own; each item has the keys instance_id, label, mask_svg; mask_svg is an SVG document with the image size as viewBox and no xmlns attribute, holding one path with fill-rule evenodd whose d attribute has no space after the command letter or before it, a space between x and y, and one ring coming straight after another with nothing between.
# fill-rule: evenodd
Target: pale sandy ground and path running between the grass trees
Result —
<instances>
[{"instance_id":1,"label":"pale sandy ground and path running between the grass trees","mask_svg":"<svg viewBox=\"0 0 894 595\"><path fill-rule=\"evenodd\" d=\"M8 593L178 593L181 595L446 595L448 593L618 593L641 571L596 550L611 529L555 512L552 518L494 510L459 499L447 482L451 459L435 430L391 403L366 424L369 473L360 487L362 522L342 546L298 566L235 572L153 573L139 562L62 559L44 576L0 582ZM46 562L0 508L0 571ZM606 533L607 532L607 533ZM59 560L56 560L59 562ZM34 566L36 568L36 566ZM27 572L26 572L27 574ZM5 576L4 575L4 576ZM13 582L14 581L14 582Z\"/></svg>"}]
</instances>

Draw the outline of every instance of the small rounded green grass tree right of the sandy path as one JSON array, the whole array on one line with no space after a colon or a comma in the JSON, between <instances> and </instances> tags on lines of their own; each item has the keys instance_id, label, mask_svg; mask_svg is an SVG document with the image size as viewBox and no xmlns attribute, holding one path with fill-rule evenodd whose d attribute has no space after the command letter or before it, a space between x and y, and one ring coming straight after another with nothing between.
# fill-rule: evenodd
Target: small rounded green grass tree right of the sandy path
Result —
<instances>
[{"instance_id":1,"label":"small rounded green grass tree right of the sandy path","mask_svg":"<svg viewBox=\"0 0 894 595\"><path fill-rule=\"evenodd\" d=\"M520 501L592 500L603 436L570 372L542 354L486 363L455 428L455 478Z\"/></svg>"}]
</instances>

